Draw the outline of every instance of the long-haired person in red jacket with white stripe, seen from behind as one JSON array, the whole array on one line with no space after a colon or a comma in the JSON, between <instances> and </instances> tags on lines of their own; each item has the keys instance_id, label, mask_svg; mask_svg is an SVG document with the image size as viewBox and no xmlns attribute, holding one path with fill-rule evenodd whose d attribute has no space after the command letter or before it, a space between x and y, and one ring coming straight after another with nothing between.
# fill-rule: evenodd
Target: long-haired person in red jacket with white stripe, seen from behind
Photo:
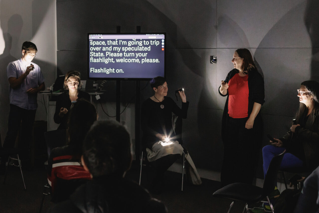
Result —
<instances>
[{"instance_id":1,"label":"long-haired person in red jacket with white stripe, seen from behind","mask_svg":"<svg viewBox=\"0 0 319 213\"><path fill-rule=\"evenodd\" d=\"M52 149L48 160L48 183L52 186L54 201L66 199L73 193L74 188L70 188L72 181L68 182L68 180L77 183L79 179L91 179L90 173L85 171L81 164L81 155L83 140L92 124L97 120L97 112L93 104L79 99L69 113L68 145ZM61 188L59 181L70 186Z\"/></svg>"}]
</instances>

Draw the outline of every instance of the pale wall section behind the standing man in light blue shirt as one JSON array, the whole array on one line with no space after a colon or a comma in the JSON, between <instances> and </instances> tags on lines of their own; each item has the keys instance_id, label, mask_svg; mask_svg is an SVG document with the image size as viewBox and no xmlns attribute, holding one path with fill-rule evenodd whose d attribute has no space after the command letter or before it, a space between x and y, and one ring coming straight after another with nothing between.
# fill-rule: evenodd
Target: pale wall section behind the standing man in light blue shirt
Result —
<instances>
[{"instance_id":1,"label":"pale wall section behind the standing man in light blue shirt","mask_svg":"<svg viewBox=\"0 0 319 213\"><path fill-rule=\"evenodd\" d=\"M25 41L36 44L33 62L41 68L48 87L56 79L56 1L0 0L0 133L2 143L8 129L9 82L7 65L20 59ZM47 120L42 95L38 95L36 120Z\"/></svg>"}]
</instances>

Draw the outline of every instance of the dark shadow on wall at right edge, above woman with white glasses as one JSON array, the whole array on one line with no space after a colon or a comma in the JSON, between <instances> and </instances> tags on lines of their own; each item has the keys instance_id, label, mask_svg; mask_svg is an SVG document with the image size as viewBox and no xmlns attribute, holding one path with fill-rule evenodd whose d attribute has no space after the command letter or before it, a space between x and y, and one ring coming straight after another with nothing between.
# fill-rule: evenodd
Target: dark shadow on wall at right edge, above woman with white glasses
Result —
<instances>
[{"instance_id":1,"label":"dark shadow on wall at right edge, above woman with white glasses","mask_svg":"<svg viewBox=\"0 0 319 213\"><path fill-rule=\"evenodd\" d=\"M304 15L305 25L312 46L311 80L319 81L319 4L317 0L308 0Z\"/></svg>"}]
</instances>

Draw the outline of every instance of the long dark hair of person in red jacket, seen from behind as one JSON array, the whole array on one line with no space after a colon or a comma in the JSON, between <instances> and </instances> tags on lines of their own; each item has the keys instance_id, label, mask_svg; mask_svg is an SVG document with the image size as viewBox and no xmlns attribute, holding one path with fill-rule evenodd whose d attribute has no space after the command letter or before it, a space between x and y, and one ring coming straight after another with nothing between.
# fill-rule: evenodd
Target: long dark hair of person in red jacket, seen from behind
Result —
<instances>
[{"instance_id":1,"label":"long dark hair of person in red jacket, seen from behind","mask_svg":"<svg viewBox=\"0 0 319 213\"><path fill-rule=\"evenodd\" d=\"M83 139L97 119L93 104L85 99L78 99L70 109L68 121L68 145L72 146L75 155L82 154Z\"/></svg>"}]
</instances>

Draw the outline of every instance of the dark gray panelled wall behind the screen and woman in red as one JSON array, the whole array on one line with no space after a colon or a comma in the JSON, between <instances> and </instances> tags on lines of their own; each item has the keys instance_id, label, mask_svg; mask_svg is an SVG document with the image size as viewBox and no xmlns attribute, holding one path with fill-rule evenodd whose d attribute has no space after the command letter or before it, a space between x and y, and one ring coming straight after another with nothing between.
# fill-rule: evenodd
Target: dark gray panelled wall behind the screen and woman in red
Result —
<instances>
[{"instance_id":1,"label":"dark gray panelled wall behind the screen and woman in red","mask_svg":"<svg viewBox=\"0 0 319 213\"><path fill-rule=\"evenodd\" d=\"M0 2L4 29L2 5L7 1ZM183 121L184 143L197 167L219 170L223 155L220 122L226 99L219 96L217 89L233 68L234 50L249 48L252 52L265 81L266 102L261 109L264 133L282 136L298 107L296 89L304 80L318 80L315 68L319 61L319 8L315 3L315 0L56 0L58 74L77 69L85 79L88 32L116 32L116 26L121 26L122 32L135 32L136 26L141 26L142 32L167 32L168 95L174 97L174 90L183 86L190 102L188 119ZM210 63L211 55L217 55L216 65ZM115 100L115 83L107 84L103 103ZM122 82L123 102L133 97L134 85ZM147 87L142 91L142 101L151 95ZM128 115L125 119L129 119ZM267 143L264 136L263 145ZM262 174L261 161L258 173Z\"/></svg>"}]
</instances>

